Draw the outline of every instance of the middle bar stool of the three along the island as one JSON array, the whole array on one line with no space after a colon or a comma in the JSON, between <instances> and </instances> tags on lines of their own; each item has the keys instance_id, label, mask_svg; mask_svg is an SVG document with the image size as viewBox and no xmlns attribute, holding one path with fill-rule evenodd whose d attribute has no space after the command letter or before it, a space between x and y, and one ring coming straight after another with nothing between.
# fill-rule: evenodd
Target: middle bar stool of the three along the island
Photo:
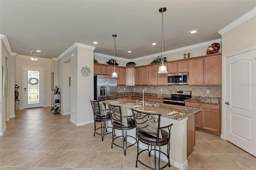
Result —
<instances>
[{"instance_id":1,"label":"middle bar stool of the three along the island","mask_svg":"<svg viewBox=\"0 0 256 170\"><path fill-rule=\"evenodd\" d=\"M132 115L128 116L126 114L125 105L118 105L118 104L114 104L114 103L109 104L108 103L108 109L110 112L113 132L115 129L122 130L122 136L116 136L115 138L114 138L114 133L112 132L111 148L113 148L113 144L122 148L124 150L124 156L126 156L127 148L133 146L137 142L137 138L127 135L127 130L131 130L131 129L135 128L135 121L134 121ZM122 137L122 146L115 143L115 140L119 137ZM132 144L127 143L128 137L132 140L134 139L135 142Z\"/></svg>"}]
</instances>

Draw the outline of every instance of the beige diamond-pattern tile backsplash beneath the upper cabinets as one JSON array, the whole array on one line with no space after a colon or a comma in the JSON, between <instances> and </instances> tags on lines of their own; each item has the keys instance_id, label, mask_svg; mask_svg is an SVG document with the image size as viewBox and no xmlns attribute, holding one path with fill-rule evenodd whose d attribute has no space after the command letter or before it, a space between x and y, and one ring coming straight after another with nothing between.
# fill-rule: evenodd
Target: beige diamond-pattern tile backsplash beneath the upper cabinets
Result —
<instances>
[{"instance_id":1,"label":"beige diamond-pattern tile backsplash beneath the upper cabinets","mask_svg":"<svg viewBox=\"0 0 256 170\"><path fill-rule=\"evenodd\" d=\"M171 85L171 86L118 86L117 92L140 92L146 88L146 93L167 94L171 90L191 90L192 96L204 97L221 97L221 86L188 86L188 85ZM124 90L125 89L125 90ZM161 91L162 89L162 91ZM209 90L209 94L206 93Z\"/></svg>"}]
</instances>

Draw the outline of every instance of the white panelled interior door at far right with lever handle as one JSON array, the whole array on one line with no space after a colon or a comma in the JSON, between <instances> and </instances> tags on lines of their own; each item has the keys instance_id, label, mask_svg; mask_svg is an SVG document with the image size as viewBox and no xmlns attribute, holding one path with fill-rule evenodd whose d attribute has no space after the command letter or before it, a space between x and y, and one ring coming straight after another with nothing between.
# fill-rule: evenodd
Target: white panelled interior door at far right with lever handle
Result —
<instances>
[{"instance_id":1,"label":"white panelled interior door at far right with lever handle","mask_svg":"<svg viewBox=\"0 0 256 170\"><path fill-rule=\"evenodd\" d=\"M226 58L226 139L256 156L256 50Z\"/></svg>"}]
</instances>

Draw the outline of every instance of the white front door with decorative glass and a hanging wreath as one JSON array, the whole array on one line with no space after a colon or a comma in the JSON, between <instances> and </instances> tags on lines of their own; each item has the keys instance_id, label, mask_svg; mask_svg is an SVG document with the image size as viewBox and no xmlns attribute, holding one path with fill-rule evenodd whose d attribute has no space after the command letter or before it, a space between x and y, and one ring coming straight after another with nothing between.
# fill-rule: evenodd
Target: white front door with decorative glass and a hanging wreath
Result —
<instances>
[{"instance_id":1,"label":"white front door with decorative glass and a hanging wreath","mask_svg":"<svg viewBox=\"0 0 256 170\"><path fill-rule=\"evenodd\" d=\"M43 68L24 67L24 109L43 106Z\"/></svg>"}]
</instances>

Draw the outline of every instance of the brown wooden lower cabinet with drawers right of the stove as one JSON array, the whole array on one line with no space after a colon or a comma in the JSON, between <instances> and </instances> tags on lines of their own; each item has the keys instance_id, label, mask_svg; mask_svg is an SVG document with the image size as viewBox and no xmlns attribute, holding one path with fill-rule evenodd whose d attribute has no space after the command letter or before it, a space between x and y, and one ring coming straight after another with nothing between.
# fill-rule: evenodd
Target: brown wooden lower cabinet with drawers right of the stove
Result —
<instances>
[{"instance_id":1,"label":"brown wooden lower cabinet with drawers right of the stove","mask_svg":"<svg viewBox=\"0 0 256 170\"><path fill-rule=\"evenodd\" d=\"M195 114L196 130L221 133L221 105L213 105L206 103L186 102L188 107L197 107L202 110Z\"/></svg>"}]
</instances>

